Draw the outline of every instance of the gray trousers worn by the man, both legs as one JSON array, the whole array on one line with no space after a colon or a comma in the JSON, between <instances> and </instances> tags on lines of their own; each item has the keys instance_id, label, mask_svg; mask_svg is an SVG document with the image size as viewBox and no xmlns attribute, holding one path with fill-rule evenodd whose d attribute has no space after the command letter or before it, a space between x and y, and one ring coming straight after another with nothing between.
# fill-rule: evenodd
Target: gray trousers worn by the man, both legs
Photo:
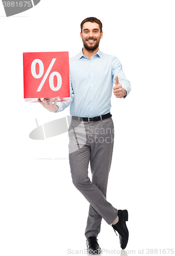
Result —
<instances>
[{"instance_id":1,"label":"gray trousers worn by the man, both legs","mask_svg":"<svg viewBox=\"0 0 175 256\"><path fill-rule=\"evenodd\" d=\"M101 219L112 224L117 217L117 209L106 200L114 144L113 120L111 117L96 122L72 119L69 140L73 184L90 203L85 237L97 237ZM89 162L92 181L88 177Z\"/></svg>"}]
</instances>

